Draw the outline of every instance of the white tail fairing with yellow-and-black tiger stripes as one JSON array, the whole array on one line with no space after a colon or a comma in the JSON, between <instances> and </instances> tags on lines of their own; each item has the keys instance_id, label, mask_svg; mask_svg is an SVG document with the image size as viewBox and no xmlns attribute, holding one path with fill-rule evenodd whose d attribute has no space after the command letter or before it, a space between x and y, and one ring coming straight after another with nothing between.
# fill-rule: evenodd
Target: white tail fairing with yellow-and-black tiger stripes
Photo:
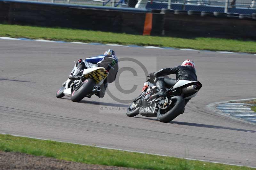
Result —
<instances>
[{"instance_id":1,"label":"white tail fairing with yellow-and-black tiger stripes","mask_svg":"<svg viewBox=\"0 0 256 170\"><path fill-rule=\"evenodd\" d=\"M84 69L83 75L85 79L92 78L96 84L104 80L108 76L108 72L104 67L95 67Z\"/></svg>"}]
</instances>

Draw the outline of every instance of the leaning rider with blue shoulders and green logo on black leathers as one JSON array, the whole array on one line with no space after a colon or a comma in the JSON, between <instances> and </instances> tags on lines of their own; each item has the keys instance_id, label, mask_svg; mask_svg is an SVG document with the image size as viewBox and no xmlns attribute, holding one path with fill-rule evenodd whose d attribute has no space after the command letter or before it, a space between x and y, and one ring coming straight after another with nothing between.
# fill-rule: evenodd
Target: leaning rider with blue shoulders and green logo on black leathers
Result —
<instances>
[{"instance_id":1,"label":"leaning rider with blue shoulders and green logo on black leathers","mask_svg":"<svg viewBox=\"0 0 256 170\"><path fill-rule=\"evenodd\" d=\"M100 86L101 90L96 94L98 97L103 98L108 87L108 83L112 83L116 79L118 72L118 60L114 50L108 49L101 56L79 59L76 63L76 74L73 75L74 69L70 73L70 78L81 76L84 69L94 67L104 67L108 71L108 77L105 78L103 84Z\"/></svg>"}]
</instances>

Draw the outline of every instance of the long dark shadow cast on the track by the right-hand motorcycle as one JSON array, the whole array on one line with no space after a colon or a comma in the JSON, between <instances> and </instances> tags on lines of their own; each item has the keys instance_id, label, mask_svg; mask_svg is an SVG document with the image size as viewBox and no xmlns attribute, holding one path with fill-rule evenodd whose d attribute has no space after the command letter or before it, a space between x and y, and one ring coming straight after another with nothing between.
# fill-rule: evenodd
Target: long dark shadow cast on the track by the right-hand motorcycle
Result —
<instances>
[{"instance_id":1,"label":"long dark shadow cast on the track by the right-hand motorcycle","mask_svg":"<svg viewBox=\"0 0 256 170\"><path fill-rule=\"evenodd\" d=\"M156 120L151 118L142 118L142 117L136 117L140 119L148 119L148 120ZM158 121L158 120L156 120ZM185 126L195 126L195 127L201 127L201 128L214 128L214 129L228 129L228 130L236 130L241 132L252 132L256 133L256 130L246 130L246 129L238 129L238 128L229 128L225 126L215 126L215 125L205 125L200 123L189 123L189 122L178 122L178 121L170 121L170 124L178 124L178 125L185 125Z\"/></svg>"}]
</instances>

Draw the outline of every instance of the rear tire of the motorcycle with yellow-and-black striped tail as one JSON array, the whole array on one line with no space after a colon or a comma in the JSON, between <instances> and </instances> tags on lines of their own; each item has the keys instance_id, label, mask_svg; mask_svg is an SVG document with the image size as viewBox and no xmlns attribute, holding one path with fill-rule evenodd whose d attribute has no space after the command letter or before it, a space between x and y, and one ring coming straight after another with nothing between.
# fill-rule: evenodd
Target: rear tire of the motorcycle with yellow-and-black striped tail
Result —
<instances>
[{"instance_id":1,"label":"rear tire of the motorcycle with yellow-and-black striped tail","mask_svg":"<svg viewBox=\"0 0 256 170\"><path fill-rule=\"evenodd\" d=\"M83 85L72 92L71 100L73 102L80 102L86 95L92 92L93 87L95 86L95 81L93 79L86 79L83 82Z\"/></svg>"}]
</instances>

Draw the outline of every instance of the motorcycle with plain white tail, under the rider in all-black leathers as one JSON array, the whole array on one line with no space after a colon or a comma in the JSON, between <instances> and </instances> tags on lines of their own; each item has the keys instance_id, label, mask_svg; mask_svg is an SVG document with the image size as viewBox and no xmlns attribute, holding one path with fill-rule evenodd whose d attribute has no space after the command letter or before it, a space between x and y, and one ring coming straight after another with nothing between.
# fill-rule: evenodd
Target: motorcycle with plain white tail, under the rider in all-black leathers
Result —
<instances>
[{"instance_id":1,"label":"motorcycle with plain white tail, under the rider in all-black leathers","mask_svg":"<svg viewBox=\"0 0 256 170\"><path fill-rule=\"evenodd\" d=\"M166 88L165 97L150 97L159 90L154 82L148 79L144 83L142 93L127 108L126 115L134 117L138 114L157 117L161 122L170 122L185 110L186 100L195 97L202 84L199 81L179 80L171 89Z\"/></svg>"}]
</instances>

